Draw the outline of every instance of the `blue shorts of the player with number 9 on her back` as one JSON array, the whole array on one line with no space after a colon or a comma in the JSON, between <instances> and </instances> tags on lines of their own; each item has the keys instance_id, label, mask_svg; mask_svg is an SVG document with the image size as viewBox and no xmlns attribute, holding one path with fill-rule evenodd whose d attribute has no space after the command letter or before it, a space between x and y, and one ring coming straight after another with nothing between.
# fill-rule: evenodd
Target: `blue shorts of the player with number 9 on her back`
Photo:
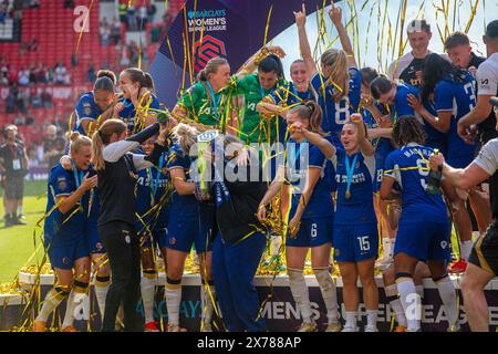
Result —
<instances>
[{"instance_id":1,"label":"blue shorts of the player with number 9 on her back","mask_svg":"<svg viewBox=\"0 0 498 354\"><path fill-rule=\"evenodd\" d=\"M449 222L400 220L394 256L406 253L421 261L449 260Z\"/></svg>"}]
</instances>

